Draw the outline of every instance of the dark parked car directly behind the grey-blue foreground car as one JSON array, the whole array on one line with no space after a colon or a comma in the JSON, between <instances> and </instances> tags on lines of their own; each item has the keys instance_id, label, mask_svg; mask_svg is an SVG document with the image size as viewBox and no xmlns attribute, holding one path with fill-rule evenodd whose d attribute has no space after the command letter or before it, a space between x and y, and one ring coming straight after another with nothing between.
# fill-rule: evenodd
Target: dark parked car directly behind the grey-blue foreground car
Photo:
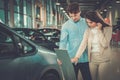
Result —
<instances>
[{"instance_id":1,"label":"dark parked car directly behind the grey-blue foreground car","mask_svg":"<svg viewBox=\"0 0 120 80\"><path fill-rule=\"evenodd\" d=\"M46 38L46 36L35 30L35 29L29 29L29 28L13 28L17 33L21 34L25 38L33 41L39 46L43 46L47 49L53 50L54 48L58 48L58 46L55 44L55 42L50 41Z\"/></svg>"}]
</instances>

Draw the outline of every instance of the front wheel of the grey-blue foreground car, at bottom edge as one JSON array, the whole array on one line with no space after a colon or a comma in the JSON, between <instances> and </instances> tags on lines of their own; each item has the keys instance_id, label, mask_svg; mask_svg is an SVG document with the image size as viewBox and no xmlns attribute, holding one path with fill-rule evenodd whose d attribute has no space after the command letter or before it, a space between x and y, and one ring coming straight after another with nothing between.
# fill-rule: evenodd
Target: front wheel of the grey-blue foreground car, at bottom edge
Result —
<instances>
[{"instance_id":1,"label":"front wheel of the grey-blue foreground car, at bottom edge","mask_svg":"<svg viewBox=\"0 0 120 80\"><path fill-rule=\"evenodd\" d=\"M47 73L40 80L60 80L57 74Z\"/></svg>"}]
</instances>

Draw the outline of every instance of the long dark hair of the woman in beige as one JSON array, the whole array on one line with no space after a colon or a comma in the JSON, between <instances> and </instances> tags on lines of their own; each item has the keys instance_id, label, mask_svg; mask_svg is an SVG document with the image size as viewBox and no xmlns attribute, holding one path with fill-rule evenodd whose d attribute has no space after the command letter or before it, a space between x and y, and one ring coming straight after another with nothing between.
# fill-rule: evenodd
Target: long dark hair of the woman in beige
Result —
<instances>
[{"instance_id":1,"label":"long dark hair of the woman in beige","mask_svg":"<svg viewBox=\"0 0 120 80\"><path fill-rule=\"evenodd\" d=\"M102 16L96 12L96 11L88 11L85 14L85 18L86 19L90 19L93 22L96 23L101 23L102 24L102 30L104 27L109 27L110 25L104 22L104 19L102 18Z\"/></svg>"}]
</instances>

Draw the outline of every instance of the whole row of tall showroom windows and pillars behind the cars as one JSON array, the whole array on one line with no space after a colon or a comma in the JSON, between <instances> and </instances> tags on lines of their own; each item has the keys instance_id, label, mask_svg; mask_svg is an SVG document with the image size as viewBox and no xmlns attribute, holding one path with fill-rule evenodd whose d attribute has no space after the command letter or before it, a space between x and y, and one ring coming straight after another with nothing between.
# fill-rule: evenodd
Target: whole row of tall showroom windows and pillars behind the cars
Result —
<instances>
[{"instance_id":1,"label":"whole row of tall showroom windows and pillars behind the cars","mask_svg":"<svg viewBox=\"0 0 120 80\"><path fill-rule=\"evenodd\" d=\"M0 0L0 21L11 27L58 26L65 18L60 14L56 0Z\"/></svg>"}]
</instances>

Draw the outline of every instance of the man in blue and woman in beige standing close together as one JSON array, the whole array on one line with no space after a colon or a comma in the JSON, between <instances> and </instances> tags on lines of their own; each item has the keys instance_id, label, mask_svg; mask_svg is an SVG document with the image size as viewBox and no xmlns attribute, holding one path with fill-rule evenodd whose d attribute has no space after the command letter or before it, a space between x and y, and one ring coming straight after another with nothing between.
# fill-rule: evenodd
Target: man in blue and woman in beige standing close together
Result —
<instances>
[{"instance_id":1,"label":"man in blue and woman in beige standing close together","mask_svg":"<svg viewBox=\"0 0 120 80\"><path fill-rule=\"evenodd\" d=\"M70 4L68 12L70 19L62 25L59 48L68 51L77 79L80 70L83 80L98 80L99 69L109 62L112 27L95 11L80 17L78 3Z\"/></svg>"}]
</instances>

